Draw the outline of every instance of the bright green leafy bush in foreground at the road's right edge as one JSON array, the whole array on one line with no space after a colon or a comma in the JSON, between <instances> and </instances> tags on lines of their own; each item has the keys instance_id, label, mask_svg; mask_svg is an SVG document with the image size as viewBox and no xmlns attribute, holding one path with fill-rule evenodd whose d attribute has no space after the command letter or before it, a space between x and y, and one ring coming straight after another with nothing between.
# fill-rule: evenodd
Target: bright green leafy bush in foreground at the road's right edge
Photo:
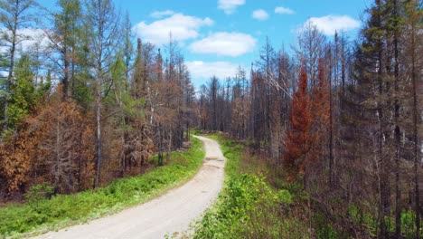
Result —
<instances>
[{"instance_id":1,"label":"bright green leafy bush in foreground at the road's right edge","mask_svg":"<svg viewBox=\"0 0 423 239\"><path fill-rule=\"evenodd\" d=\"M252 215L264 216L258 211L261 204L277 208L277 196L262 177L230 177L217 205L197 225L194 238L243 238L243 234L253 231L268 234L252 221Z\"/></svg>"}]
</instances>

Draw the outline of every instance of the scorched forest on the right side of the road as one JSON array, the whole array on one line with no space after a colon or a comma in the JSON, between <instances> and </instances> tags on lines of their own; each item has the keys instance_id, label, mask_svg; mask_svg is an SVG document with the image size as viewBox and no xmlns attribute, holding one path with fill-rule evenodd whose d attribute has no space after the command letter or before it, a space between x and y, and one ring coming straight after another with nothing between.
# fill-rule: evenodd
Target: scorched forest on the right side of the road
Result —
<instances>
[{"instance_id":1,"label":"scorched forest on the right side of the road","mask_svg":"<svg viewBox=\"0 0 423 239\"><path fill-rule=\"evenodd\" d=\"M202 86L200 125L248 141L339 227L359 232L351 214L363 227L371 215L373 236L402 238L409 212L421 238L421 1L375 0L365 13L357 39L309 25L294 54L267 39L249 73Z\"/></svg>"}]
</instances>

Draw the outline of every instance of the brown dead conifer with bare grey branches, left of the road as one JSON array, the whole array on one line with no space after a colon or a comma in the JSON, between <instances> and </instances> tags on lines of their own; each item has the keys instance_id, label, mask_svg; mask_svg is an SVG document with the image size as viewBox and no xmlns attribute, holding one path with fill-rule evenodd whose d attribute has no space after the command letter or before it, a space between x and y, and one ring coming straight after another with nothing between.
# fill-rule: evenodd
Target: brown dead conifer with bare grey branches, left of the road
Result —
<instances>
[{"instance_id":1,"label":"brown dead conifer with bare grey branches, left of the road","mask_svg":"<svg viewBox=\"0 0 423 239\"><path fill-rule=\"evenodd\" d=\"M95 148L90 140L94 131L80 106L72 100L62 101L61 94L57 91L48 106L26 121L29 129L42 132L39 155L31 157L45 164L44 180L58 192L71 193L92 186Z\"/></svg>"}]
</instances>

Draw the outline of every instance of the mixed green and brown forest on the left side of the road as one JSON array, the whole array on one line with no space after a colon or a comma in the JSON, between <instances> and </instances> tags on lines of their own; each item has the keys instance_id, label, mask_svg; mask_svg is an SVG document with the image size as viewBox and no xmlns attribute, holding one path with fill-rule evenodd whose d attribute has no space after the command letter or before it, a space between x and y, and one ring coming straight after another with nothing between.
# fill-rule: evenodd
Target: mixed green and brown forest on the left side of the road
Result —
<instances>
[{"instance_id":1,"label":"mixed green and brown forest on the left side of the road","mask_svg":"<svg viewBox=\"0 0 423 239\"><path fill-rule=\"evenodd\" d=\"M2 197L49 182L57 193L142 173L153 152L183 144L194 89L176 45L138 39L111 1L58 1L48 47L16 47L36 23L32 0L2 1ZM39 50L38 49L38 50Z\"/></svg>"}]
</instances>

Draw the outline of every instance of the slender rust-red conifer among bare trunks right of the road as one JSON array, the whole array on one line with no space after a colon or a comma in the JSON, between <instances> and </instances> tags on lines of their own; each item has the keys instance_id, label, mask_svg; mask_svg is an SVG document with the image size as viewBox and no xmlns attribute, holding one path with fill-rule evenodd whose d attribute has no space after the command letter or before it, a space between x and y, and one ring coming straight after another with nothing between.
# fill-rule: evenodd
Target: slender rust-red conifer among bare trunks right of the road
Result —
<instances>
[{"instance_id":1,"label":"slender rust-red conifer among bare trunks right of the road","mask_svg":"<svg viewBox=\"0 0 423 239\"><path fill-rule=\"evenodd\" d=\"M310 97L307 93L307 74L304 67L299 75L298 90L294 93L289 115L290 129L287 130L285 166L288 169L288 180L304 175L305 158L312 143L310 132L312 125Z\"/></svg>"}]
</instances>

